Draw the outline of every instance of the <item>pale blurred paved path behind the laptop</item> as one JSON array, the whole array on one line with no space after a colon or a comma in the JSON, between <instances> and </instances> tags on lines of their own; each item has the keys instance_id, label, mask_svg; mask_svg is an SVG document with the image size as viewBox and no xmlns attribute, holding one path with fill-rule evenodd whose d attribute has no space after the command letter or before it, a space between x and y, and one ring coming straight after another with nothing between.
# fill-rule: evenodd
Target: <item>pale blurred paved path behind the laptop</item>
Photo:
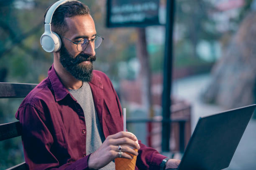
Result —
<instances>
[{"instance_id":1,"label":"pale blurred paved path behind the laptop","mask_svg":"<svg viewBox=\"0 0 256 170\"><path fill-rule=\"evenodd\" d=\"M186 99L192 105L191 126L195 129L200 116L211 115L225 110L218 105L205 104L200 100L200 93L205 89L210 75L197 75L174 82L173 94ZM256 170L256 120L251 120L231 160L225 170Z\"/></svg>"}]
</instances>

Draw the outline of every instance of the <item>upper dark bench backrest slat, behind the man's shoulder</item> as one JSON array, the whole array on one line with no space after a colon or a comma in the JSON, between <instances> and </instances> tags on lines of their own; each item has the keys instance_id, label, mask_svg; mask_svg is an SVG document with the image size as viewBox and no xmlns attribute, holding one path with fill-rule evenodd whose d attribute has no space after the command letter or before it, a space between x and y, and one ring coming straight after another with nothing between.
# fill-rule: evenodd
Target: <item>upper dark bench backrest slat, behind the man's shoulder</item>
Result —
<instances>
[{"instance_id":1,"label":"upper dark bench backrest slat, behind the man's shoulder","mask_svg":"<svg viewBox=\"0 0 256 170\"><path fill-rule=\"evenodd\" d=\"M26 97L37 84L0 82L0 98Z\"/></svg>"}]
</instances>

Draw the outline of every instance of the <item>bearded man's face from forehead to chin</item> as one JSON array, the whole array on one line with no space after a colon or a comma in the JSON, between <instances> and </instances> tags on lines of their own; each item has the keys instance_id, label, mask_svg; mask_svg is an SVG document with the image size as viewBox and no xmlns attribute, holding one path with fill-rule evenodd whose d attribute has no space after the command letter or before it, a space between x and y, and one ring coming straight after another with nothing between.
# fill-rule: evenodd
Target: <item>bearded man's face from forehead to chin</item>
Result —
<instances>
[{"instance_id":1,"label":"bearded man's face from forehead to chin","mask_svg":"<svg viewBox=\"0 0 256 170\"><path fill-rule=\"evenodd\" d=\"M82 38L92 40L96 36L95 24L90 15L79 15L72 18L65 18L69 30L64 37L78 42ZM69 40L62 39L60 62L63 67L76 79L89 82L92 78L92 62L96 60L94 46L88 42L84 51L78 51L77 45Z\"/></svg>"}]
</instances>

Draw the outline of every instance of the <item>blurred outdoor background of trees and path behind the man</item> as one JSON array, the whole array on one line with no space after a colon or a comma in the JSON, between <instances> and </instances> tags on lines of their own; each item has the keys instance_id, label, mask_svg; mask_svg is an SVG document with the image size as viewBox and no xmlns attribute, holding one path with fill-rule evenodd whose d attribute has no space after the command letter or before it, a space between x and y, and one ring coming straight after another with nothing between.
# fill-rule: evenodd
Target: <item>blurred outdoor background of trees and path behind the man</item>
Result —
<instances>
[{"instance_id":1,"label":"blurred outdoor background of trees and path behind the man","mask_svg":"<svg viewBox=\"0 0 256 170\"><path fill-rule=\"evenodd\" d=\"M44 52L39 40L44 11L54 2L0 0L0 82L39 83L47 77L53 54ZM106 0L81 2L90 7L97 34L104 37L94 69L110 77L128 119L161 119L166 0L159 5L162 25L146 28L107 28ZM256 103L256 0L176 0L174 15L171 110L174 120L186 120L186 145L200 116ZM145 76L150 80L149 92ZM0 99L0 124L15 121L21 101ZM146 123L129 122L127 127L161 152L159 123L149 128ZM173 153L181 151L179 127L172 125ZM255 130L254 114L228 170L255 170ZM20 137L0 142L0 170L23 161Z\"/></svg>"}]
</instances>

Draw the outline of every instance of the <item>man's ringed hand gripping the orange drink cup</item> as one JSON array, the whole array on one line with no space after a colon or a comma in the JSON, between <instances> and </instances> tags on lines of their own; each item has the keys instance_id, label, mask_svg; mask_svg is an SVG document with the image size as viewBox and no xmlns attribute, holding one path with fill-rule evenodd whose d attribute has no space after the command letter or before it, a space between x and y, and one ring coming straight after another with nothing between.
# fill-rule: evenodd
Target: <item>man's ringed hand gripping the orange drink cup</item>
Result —
<instances>
[{"instance_id":1,"label":"man's ringed hand gripping the orange drink cup","mask_svg":"<svg viewBox=\"0 0 256 170\"><path fill-rule=\"evenodd\" d=\"M132 159L132 155L138 155L138 152L132 148L140 149L140 146L136 143L136 136L127 132L118 132L114 135L109 135L102 143L100 148L92 153L88 160L88 167L90 169L100 169L105 165L108 165L112 160L118 158L118 146L122 147L122 158ZM132 147L132 148L130 148Z\"/></svg>"}]
</instances>

